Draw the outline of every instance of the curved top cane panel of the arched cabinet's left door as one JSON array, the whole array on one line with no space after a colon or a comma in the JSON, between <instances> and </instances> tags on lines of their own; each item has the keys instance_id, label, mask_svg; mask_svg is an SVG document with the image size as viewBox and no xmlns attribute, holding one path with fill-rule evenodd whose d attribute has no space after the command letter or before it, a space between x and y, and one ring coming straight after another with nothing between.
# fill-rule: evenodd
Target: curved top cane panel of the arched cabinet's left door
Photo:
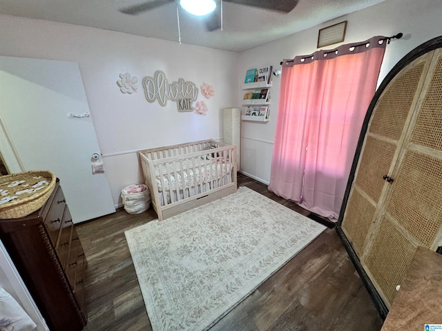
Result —
<instances>
[{"instance_id":1,"label":"curved top cane panel of the arched cabinet's left door","mask_svg":"<svg viewBox=\"0 0 442 331\"><path fill-rule=\"evenodd\" d=\"M374 110L369 132L398 140L412 106L425 63L418 63L392 81Z\"/></svg>"}]
</instances>

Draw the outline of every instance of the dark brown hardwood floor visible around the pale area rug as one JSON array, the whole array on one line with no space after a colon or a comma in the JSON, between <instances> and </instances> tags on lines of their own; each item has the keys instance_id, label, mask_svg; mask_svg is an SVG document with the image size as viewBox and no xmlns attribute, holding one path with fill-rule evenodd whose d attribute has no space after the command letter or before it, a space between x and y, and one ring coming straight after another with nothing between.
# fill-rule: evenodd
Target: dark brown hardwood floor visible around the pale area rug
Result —
<instances>
[{"instance_id":1,"label":"dark brown hardwood floor visible around the pale area rug","mask_svg":"<svg viewBox=\"0 0 442 331\"><path fill-rule=\"evenodd\" d=\"M240 185L309 214L241 174ZM138 215L121 209L76 225L88 260L88 325L84 330L152 330L124 231L156 217L152 209ZM329 228L211 331L376 331L382 323L336 231Z\"/></svg>"}]
</instances>

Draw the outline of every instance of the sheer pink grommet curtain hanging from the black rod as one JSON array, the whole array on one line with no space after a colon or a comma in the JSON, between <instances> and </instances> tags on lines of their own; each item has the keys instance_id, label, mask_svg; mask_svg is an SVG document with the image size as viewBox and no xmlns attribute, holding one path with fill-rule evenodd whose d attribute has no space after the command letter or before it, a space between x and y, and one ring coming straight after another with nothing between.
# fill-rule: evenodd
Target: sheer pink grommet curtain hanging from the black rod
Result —
<instances>
[{"instance_id":1,"label":"sheer pink grommet curtain hanging from the black rod","mask_svg":"<svg viewBox=\"0 0 442 331\"><path fill-rule=\"evenodd\" d=\"M284 60L269 190L338 219L384 37Z\"/></svg>"}]
</instances>

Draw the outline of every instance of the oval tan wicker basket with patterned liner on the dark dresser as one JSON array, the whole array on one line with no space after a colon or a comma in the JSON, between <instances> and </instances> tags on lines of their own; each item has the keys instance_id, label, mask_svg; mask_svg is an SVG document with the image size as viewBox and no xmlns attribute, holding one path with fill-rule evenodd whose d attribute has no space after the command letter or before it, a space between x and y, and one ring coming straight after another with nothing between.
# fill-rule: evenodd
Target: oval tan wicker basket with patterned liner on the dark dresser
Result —
<instances>
[{"instance_id":1,"label":"oval tan wicker basket with patterned liner on the dark dresser","mask_svg":"<svg viewBox=\"0 0 442 331\"><path fill-rule=\"evenodd\" d=\"M37 192L31 194L23 194L23 198L13 199L6 203L0 203L0 219L19 219L41 208L41 206L43 206L44 203L49 199L50 194L54 190L55 181L57 179L53 172L46 170L19 172L17 174L8 174L6 176L1 176L0 201L2 198L5 199L5 197L8 197L8 195L10 195L11 193L15 195L22 195L16 194L16 192L23 192L23 190L28 190L28 187L30 186L28 185L29 183L35 183L36 181L42 181L44 179L46 179L49 184L42 184L46 185L46 187L37 190ZM17 184L17 182L21 181L23 181L23 183ZM12 182L16 182L16 184L12 185L11 187L10 184ZM6 189L12 192L8 192L6 196L3 196L3 194L1 193L5 193Z\"/></svg>"}]
</instances>

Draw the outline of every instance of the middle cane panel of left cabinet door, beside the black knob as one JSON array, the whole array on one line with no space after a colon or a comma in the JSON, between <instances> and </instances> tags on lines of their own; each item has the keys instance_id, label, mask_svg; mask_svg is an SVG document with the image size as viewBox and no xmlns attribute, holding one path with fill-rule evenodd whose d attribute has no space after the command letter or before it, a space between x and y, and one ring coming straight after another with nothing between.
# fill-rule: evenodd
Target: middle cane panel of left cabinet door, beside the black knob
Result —
<instances>
[{"instance_id":1,"label":"middle cane panel of left cabinet door, beside the black knob","mask_svg":"<svg viewBox=\"0 0 442 331\"><path fill-rule=\"evenodd\" d=\"M396 145L367 137L363 150L356 185L358 185L375 202L378 202L383 186L384 174L388 174L393 160Z\"/></svg>"}]
</instances>

